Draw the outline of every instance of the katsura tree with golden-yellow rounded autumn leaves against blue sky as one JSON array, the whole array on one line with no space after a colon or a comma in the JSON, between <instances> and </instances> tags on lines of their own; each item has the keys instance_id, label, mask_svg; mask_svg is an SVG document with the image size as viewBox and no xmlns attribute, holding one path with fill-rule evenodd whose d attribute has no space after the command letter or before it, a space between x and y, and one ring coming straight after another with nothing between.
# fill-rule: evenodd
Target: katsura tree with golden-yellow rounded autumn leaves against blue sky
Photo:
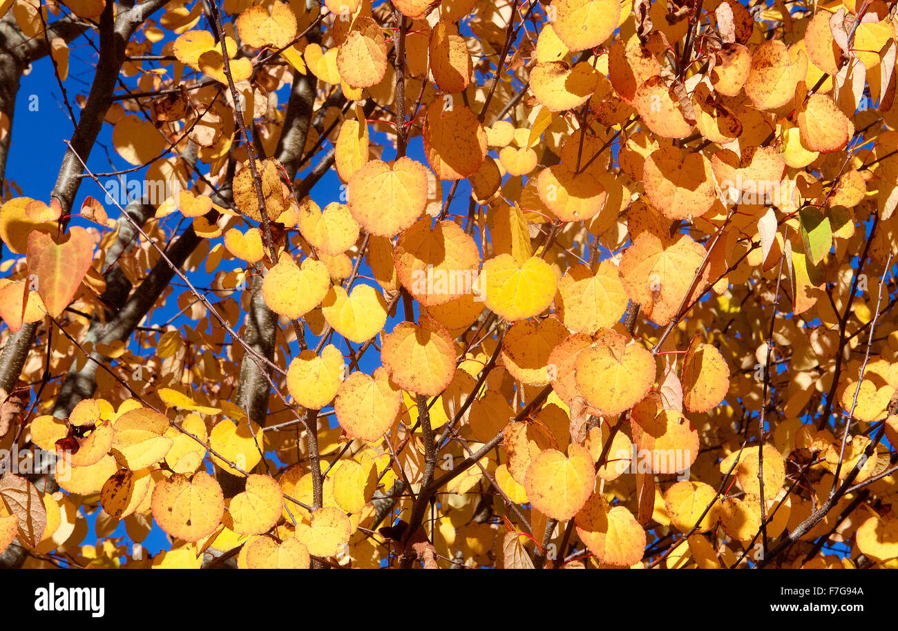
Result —
<instances>
[{"instance_id":1,"label":"katsura tree with golden-yellow rounded autumn leaves against blue sky","mask_svg":"<svg viewBox=\"0 0 898 631\"><path fill-rule=\"evenodd\" d=\"M893 2L0 13L2 565L898 564Z\"/></svg>"}]
</instances>

